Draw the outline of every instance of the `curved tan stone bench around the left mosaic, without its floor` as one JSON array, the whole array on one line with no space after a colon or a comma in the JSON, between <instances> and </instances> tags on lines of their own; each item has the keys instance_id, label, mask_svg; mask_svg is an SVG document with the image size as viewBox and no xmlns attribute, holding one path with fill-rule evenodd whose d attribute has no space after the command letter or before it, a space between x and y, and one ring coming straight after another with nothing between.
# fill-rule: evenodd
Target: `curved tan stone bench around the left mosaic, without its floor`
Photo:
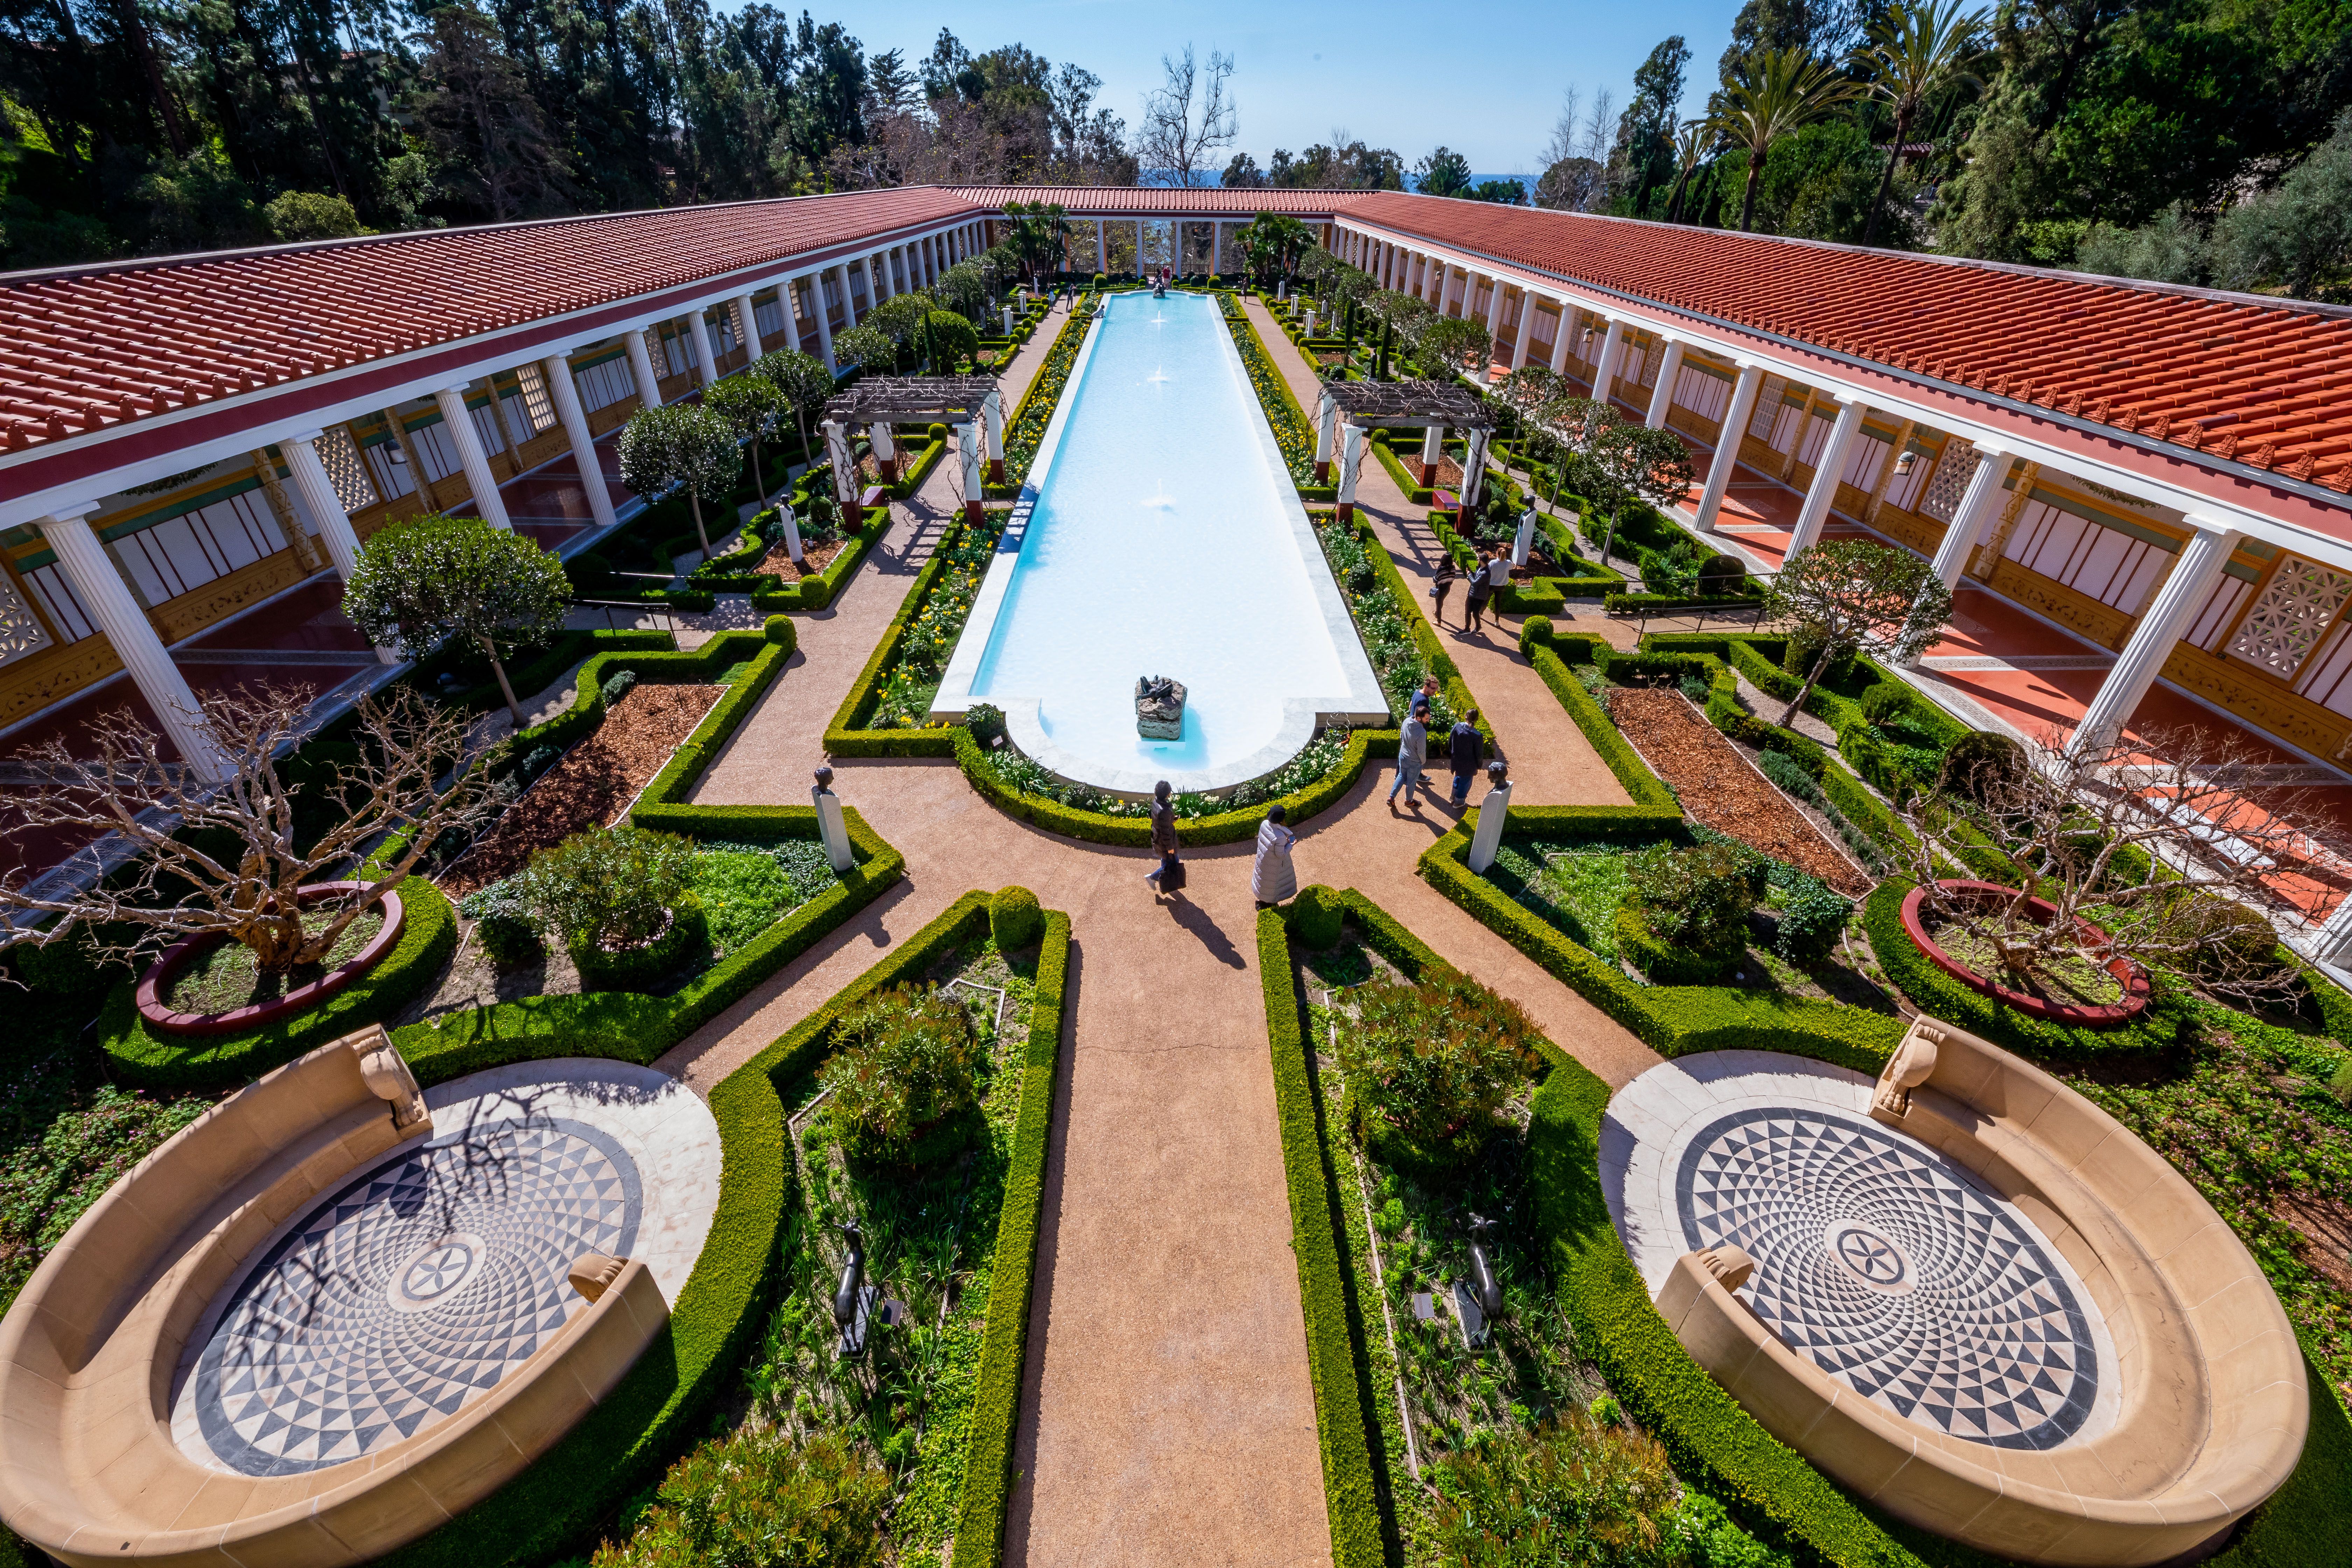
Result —
<instances>
[{"instance_id":1,"label":"curved tan stone bench around the left mosaic, without its floor","mask_svg":"<svg viewBox=\"0 0 2352 1568\"><path fill-rule=\"evenodd\" d=\"M652 1342L642 1262L581 1260L593 1295L532 1361L416 1436L249 1476L172 1441L174 1373L205 1309L282 1222L433 1131L381 1027L221 1100L66 1232L0 1321L0 1519L66 1563L360 1563L546 1453Z\"/></svg>"}]
</instances>

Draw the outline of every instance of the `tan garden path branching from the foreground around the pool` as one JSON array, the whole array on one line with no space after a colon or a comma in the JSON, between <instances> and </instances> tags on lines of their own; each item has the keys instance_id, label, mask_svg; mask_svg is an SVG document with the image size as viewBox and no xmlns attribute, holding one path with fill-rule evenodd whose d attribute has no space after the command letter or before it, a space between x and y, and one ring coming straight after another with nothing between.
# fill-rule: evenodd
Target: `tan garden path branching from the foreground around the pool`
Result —
<instances>
[{"instance_id":1,"label":"tan garden path branching from the foreground around the pool","mask_svg":"<svg viewBox=\"0 0 2352 1568\"><path fill-rule=\"evenodd\" d=\"M833 609L800 616L786 677L696 802L802 797L826 722L953 505L943 484L934 475L901 508ZM1402 515L1402 496L1392 503ZM1376 527L1411 581L1411 524L1383 515ZM1512 738L1522 797L1625 799L1510 637L1456 642L1456 658ZM967 889L1018 882L1068 910L1077 1006L1047 1168L1007 1561L1329 1561L1249 844L1188 853L1190 889L1160 900L1143 884L1145 851L1014 823L950 762L844 759L837 773L847 804L906 856L906 879L659 1065L708 1093ZM1369 773L1305 825L1301 872L1376 898L1611 1084L1646 1070L1656 1058L1639 1041L1414 875L1454 820L1432 799L1390 813L1385 783L1385 769Z\"/></svg>"}]
</instances>

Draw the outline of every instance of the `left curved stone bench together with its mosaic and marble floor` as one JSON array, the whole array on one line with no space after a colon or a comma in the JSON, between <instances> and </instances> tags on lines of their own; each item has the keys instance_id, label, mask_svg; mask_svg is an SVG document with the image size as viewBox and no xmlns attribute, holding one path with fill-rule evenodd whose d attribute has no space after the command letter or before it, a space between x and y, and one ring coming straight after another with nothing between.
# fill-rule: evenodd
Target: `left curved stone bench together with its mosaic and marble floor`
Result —
<instances>
[{"instance_id":1,"label":"left curved stone bench together with its mosaic and marble floor","mask_svg":"<svg viewBox=\"0 0 2352 1568\"><path fill-rule=\"evenodd\" d=\"M26 1284L0 1519L78 1568L379 1559L619 1385L715 1194L708 1110L652 1070L421 1095L381 1027L320 1046L158 1147Z\"/></svg>"}]
</instances>

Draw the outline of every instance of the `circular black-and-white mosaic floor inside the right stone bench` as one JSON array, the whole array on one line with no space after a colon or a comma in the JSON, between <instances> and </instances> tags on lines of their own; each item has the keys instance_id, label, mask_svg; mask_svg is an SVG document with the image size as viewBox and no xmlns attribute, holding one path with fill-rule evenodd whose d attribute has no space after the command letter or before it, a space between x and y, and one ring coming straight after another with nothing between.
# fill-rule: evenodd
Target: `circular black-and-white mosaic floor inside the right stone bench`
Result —
<instances>
[{"instance_id":1,"label":"circular black-and-white mosaic floor inside the right stone bench","mask_svg":"<svg viewBox=\"0 0 2352 1568\"><path fill-rule=\"evenodd\" d=\"M1865 1399L1997 1448L2056 1448L2098 1396L2098 1352L2042 1241L1933 1150L1830 1110L1750 1107L1682 1150L1691 1248L1757 1260L1780 1340Z\"/></svg>"}]
</instances>

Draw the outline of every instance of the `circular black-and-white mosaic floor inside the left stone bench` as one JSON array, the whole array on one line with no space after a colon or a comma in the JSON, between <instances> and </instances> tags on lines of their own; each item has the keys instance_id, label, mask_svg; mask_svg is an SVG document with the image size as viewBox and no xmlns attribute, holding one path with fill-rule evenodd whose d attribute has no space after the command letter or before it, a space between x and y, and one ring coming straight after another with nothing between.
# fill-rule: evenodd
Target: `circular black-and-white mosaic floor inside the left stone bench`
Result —
<instances>
[{"instance_id":1,"label":"circular black-and-white mosaic floor inside the left stone bench","mask_svg":"<svg viewBox=\"0 0 2352 1568\"><path fill-rule=\"evenodd\" d=\"M230 1293L195 1366L205 1448L249 1476L358 1460L456 1415L630 1255L637 1166L595 1126L492 1121L346 1182Z\"/></svg>"}]
</instances>

